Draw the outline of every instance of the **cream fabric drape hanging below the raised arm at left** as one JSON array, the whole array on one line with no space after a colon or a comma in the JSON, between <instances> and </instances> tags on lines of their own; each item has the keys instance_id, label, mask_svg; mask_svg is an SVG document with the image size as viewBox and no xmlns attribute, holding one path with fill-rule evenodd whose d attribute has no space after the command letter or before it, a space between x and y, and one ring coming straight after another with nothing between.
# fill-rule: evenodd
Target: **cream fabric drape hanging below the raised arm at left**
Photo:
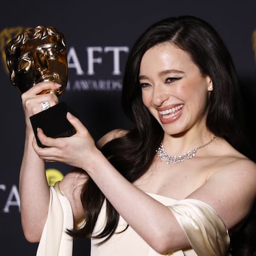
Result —
<instances>
[{"instance_id":1,"label":"cream fabric drape hanging below the raised arm at left","mask_svg":"<svg viewBox=\"0 0 256 256\"><path fill-rule=\"evenodd\" d=\"M59 182L50 187L48 217L36 256L71 256L73 239L66 231L73 228L73 214L67 197L59 189Z\"/></svg>"}]
</instances>

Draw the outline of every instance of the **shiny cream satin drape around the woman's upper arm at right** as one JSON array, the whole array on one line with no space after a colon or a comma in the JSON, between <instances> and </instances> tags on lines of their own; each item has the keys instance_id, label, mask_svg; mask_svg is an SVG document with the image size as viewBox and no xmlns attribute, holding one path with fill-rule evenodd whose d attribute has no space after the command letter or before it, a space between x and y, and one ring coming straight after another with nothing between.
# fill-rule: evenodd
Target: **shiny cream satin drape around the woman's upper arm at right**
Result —
<instances>
[{"instance_id":1,"label":"shiny cream satin drape around the woman's upper arm at right","mask_svg":"<svg viewBox=\"0 0 256 256\"><path fill-rule=\"evenodd\" d=\"M198 256L228 256L229 234L216 211L207 203L186 198L168 206L184 229Z\"/></svg>"}]
</instances>

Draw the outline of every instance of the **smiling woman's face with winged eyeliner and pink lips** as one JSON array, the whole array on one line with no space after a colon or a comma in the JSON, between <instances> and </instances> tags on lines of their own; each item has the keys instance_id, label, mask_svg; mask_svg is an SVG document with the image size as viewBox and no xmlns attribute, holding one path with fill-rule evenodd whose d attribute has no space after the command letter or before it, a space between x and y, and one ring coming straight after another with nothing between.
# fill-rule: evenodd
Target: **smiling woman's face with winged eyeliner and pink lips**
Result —
<instances>
[{"instance_id":1,"label":"smiling woman's face with winged eyeliner and pink lips","mask_svg":"<svg viewBox=\"0 0 256 256\"><path fill-rule=\"evenodd\" d=\"M148 49L139 80L143 103L164 132L174 135L205 127L211 79L202 76L185 51L171 43Z\"/></svg>"}]
</instances>

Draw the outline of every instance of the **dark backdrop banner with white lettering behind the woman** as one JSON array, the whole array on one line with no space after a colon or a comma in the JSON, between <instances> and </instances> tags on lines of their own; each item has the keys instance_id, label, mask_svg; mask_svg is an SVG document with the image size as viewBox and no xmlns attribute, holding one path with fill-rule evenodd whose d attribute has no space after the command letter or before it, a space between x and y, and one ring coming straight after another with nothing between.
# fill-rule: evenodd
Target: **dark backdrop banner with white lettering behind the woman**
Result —
<instances>
[{"instance_id":1,"label":"dark backdrop banner with white lettering behind the woman","mask_svg":"<svg viewBox=\"0 0 256 256\"><path fill-rule=\"evenodd\" d=\"M69 79L61 101L73 109L97 140L129 128L120 104L129 49L151 23L173 15L197 15L221 34L236 64L252 143L256 96L256 2L252 1L1 1L0 12L0 255L35 255L20 224L19 168L24 141L20 94L11 84L4 49L25 28L53 25L66 37ZM234 129L236 129L234 127ZM54 183L70 166L51 163ZM31 182L34 182L31 180ZM77 241L74 255L90 255L90 242ZM132 255L131 255L132 256Z\"/></svg>"}]
</instances>

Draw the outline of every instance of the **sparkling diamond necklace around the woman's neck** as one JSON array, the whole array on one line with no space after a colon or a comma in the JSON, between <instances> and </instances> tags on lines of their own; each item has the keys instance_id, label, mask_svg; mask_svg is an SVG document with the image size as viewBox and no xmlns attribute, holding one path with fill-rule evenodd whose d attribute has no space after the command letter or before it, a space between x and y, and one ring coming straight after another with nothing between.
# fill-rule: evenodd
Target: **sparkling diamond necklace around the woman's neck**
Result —
<instances>
[{"instance_id":1,"label":"sparkling diamond necklace around the woman's neck","mask_svg":"<svg viewBox=\"0 0 256 256\"><path fill-rule=\"evenodd\" d=\"M164 147L163 147L163 143L160 144L160 147L158 148L158 150L156 150L156 152L158 153L158 157L162 160L162 161L166 161L167 164L169 163L180 163L183 162L184 160L190 160L191 158L193 158L195 156L195 153L197 153L197 150L199 148L203 148L207 145L209 145L211 142L213 142L213 140L215 140L216 135L213 136L213 138L205 143L204 145L197 147L197 148L193 148L192 150L188 151L187 153L184 153L182 155L179 156L170 156L168 155L168 153L166 153L164 151Z\"/></svg>"}]
</instances>

